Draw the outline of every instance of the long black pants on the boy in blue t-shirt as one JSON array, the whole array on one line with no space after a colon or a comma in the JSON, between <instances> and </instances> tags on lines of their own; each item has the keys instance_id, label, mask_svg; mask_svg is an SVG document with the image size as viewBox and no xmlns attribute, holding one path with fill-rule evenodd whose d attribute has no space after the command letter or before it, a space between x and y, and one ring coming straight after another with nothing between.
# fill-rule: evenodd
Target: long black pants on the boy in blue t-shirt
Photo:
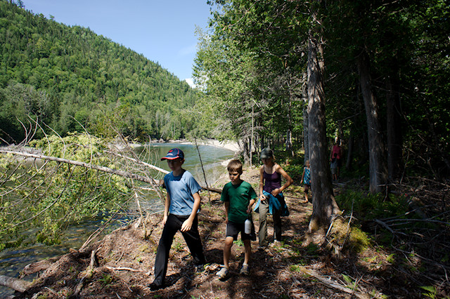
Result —
<instances>
[{"instance_id":1,"label":"long black pants on the boy in blue t-shirt","mask_svg":"<svg viewBox=\"0 0 450 299\"><path fill-rule=\"evenodd\" d=\"M177 216L169 214L167 217L167 222L162 230L160 244L158 245L158 251L156 251L155 260L155 284L162 285L167 272L167 263L169 262L169 251L174 241L175 233L181 230L181 225L188 219L189 216ZM202 265L205 263L205 255L203 255L202 240L200 239L200 234L198 234L198 216L192 223L191 230L188 232L181 232L183 234L184 240L191 251L191 255L194 259L196 265Z\"/></svg>"}]
</instances>

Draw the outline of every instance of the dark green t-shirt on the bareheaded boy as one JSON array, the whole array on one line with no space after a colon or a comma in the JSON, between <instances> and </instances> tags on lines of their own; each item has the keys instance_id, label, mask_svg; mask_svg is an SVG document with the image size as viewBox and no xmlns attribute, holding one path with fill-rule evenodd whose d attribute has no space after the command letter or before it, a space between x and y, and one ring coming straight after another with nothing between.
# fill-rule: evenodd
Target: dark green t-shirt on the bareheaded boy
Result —
<instances>
[{"instance_id":1,"label":"dark green t-shirt on the bareheaded boy","mask_svg":"<svg viewBox=\"0 0 450 299\"><path fill-rule=\"evenodd\" d=\"M229 201L230 208L228 220L235 223L243 223L247 219L247 207L251 199L256 199L257 194L252 185L242 181L239 185L226 183L220 197L221 201Z\"/></svg>"}]
</instances>

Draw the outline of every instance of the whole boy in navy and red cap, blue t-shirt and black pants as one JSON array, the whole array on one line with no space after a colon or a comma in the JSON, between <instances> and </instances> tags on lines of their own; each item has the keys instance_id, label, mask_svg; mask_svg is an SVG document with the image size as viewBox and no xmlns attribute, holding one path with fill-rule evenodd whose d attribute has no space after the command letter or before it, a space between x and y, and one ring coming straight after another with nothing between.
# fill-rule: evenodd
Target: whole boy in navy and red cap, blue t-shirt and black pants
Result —
<instances>
[{"instance_id":1,"label":"whole boy in navy and red cap, blue t-shirt and black pants","mask_svg":"<svg viewBox=\"0 0 450 299\"><path fill-rule=\"evenodd\" d=\"M198 216L200 211L200 194L202 189L189 171L181 166L184 163L184 152L178 148L169 150L166 157L167 165L172 172L164 177L167 188L167 198L164 209L164 229L155 259L155 279L149 285L151 290L164 288L164 281L169 261L169 251L175 233L181 231L184 240L191 251L196 265L205 264L203 246L198 234Z\"/></svg>"}]
</instances>

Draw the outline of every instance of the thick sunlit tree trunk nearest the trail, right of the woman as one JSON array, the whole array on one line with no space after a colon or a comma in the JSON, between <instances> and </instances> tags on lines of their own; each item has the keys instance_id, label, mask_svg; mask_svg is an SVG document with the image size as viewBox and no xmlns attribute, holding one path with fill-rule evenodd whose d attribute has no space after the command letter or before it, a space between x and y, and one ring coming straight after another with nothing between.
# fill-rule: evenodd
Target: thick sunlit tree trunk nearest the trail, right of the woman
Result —
<instances>
[{"instance_id":1,"label":"thick sunlit tree trunk nearest the trail, right of the woman","mask_svg":"<svg viewBox=\"0 0 450 299\"><path fill-rule=\"evenodd\" d=\"M313 20L316 22L316 14ZM320 23L320 22L319 22ZM308 41L308 135L309 164L311 166L311 192L313 212L309 232L321 225L328 225L331 216L338 213L335 202L331 173L328 166L326 145L325 94L323 93L323 45L310 32Z\"/></svg>"}]
</instances>

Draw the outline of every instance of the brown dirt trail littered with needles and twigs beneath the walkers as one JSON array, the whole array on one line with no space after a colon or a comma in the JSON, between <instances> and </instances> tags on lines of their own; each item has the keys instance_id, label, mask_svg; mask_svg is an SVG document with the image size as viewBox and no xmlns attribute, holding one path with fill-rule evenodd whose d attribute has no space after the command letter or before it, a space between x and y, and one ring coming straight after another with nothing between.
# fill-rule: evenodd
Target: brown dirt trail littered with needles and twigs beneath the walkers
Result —
<instances>
[{"instance_id":1,"label":"brown dirt trail littered with needles and twigs beneath the walkers","mask_svg":"<svg viewBox=\"0 0 450 299\"><path fill-rule=\"evenodd\" d=\"M258 171L248 169L243 179L255 186ZM226 181L223 178L218 184ZM96 251L98 263L92 265L89 254L63 255L41 274L34 288L18 294L18 298L32 295L38 298L38 294L44 296L41 298L382 298L383 294L393 298L423 297L417 288L411 288L413 281L402 274L407 270L394 269L387 261L389 252L369 249L338 260L327 249L315 245L323 234L305 237L312 206L304 203L302 192L293 192L298 189L292 187L285 192L290 216L282 218L281 246L258 251L257 241L252 242L248 277L238 274L243 244L237 241L232 249L231 275L226 281L217 279L215 273L222 263L224 207L219 194L208 199L205 192L199 215L200 235L209 263L205 270L195 272L188 248L178 233L167 270L168 286L150 291L148 284L153 281L155 252L162 230L162 215L153 215L146 224L151 231L147 240L143 238L142 225L116 230L87 251ZM273 238L270 221L269 237ZM355 285L356 291L352 291Z\"/></svg>"}]
</instances>

